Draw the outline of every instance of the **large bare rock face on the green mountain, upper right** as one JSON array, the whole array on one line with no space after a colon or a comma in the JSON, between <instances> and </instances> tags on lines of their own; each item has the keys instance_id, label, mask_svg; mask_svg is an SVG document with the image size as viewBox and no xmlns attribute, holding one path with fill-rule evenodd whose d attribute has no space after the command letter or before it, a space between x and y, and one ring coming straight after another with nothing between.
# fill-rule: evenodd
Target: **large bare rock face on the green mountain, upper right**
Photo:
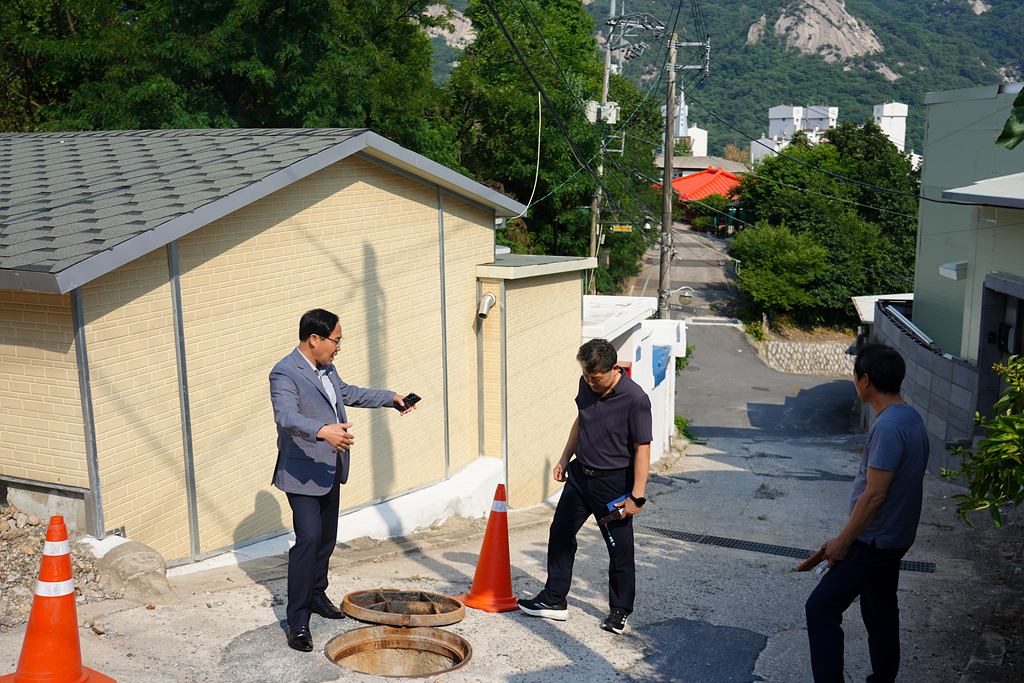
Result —
<instances>
[{"instance_id":1,"label":"large bare rock face on the green mountain, upper right","mask_svg":"<svg viewBox=\"0 0 1024 683\"><path fill-rule=\"evenodd\" d=\"M748 31L746 42L757 43L768 30L768 17L762 15ZM798 0L782 10L771 30L790 46L821 54L825 61L883 49L867 25L846 11L844 0Z\"/></svg>"}]
</instances>

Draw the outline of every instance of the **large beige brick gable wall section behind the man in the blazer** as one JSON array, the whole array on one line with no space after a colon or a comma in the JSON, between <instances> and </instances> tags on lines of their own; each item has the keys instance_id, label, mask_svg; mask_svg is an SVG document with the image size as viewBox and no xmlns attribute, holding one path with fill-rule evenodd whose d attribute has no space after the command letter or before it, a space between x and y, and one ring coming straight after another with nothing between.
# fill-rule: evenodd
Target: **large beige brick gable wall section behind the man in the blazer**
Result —
<instances>
[{"instance_id":1,"label":"large beige brick gable wall section behind the man in the blazer","mask_svg":"<svg viewBox=\"0 0 1024 683\"><path fill-rule=\"evenodd\" d=\"M463 260L478 261L473 253L490 219L474 228L471 210L451 199L445 210L454 338L469 307L465 292L475 291ZM309 308L341 316L336 365L346 382L423 396L403 417L350 411L356 442L342 509L443 477L438 246L436 190L357 159L180 241L204 552L291 525L284 495L270 486L276 451L267 377L295 347ZM464 248L465 256L457 253ZM475 407L475 381L469 399L461 383L450 388L460 409ZM472 420L475 428L475 410ZM461 420L455 426L464 429ZM475 442L474 435L474 450Z\"/></svg>"}]
</instances>

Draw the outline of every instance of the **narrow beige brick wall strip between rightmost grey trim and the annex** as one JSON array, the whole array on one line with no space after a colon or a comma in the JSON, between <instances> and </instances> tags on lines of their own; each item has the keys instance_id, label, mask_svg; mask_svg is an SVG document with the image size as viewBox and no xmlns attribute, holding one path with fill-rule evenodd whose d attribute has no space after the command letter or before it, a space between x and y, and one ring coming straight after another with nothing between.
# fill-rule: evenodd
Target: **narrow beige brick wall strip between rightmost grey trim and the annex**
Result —
<instances>
[{"instance_id":1,"label":"narrow beige brick wall strip between rightmost grey trim and the annex","mask_svg":"<svg viewBox=\"0 0 1024 683\"><path fill-rule=\"evenodd\" d=\"M494 260L493 225L494 218L489 214L452 197L444 197L449 455L453 472L480 456L475 272L477 265ZM497 292L495 294L497 296ZM501 456L500 451L498 456Z\"/></svg>"}]
</instances>

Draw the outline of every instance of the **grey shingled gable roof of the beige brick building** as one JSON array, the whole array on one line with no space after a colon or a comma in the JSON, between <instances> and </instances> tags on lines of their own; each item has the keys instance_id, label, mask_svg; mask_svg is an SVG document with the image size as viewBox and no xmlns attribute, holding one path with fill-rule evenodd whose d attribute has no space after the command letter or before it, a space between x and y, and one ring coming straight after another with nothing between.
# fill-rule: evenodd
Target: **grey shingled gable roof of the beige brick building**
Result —
<instances>
[{"instance_id":1,"label":"grey shingled gable roof of the beige brick building","mask_svg":"<svg viewBox=\"0 0 1024 683\"><path fill-rule=\"evenodd\" d=\"M0 289L68 292L352 154L519 208L361 129L2 134Z\"/></svg>"}]
</instances>

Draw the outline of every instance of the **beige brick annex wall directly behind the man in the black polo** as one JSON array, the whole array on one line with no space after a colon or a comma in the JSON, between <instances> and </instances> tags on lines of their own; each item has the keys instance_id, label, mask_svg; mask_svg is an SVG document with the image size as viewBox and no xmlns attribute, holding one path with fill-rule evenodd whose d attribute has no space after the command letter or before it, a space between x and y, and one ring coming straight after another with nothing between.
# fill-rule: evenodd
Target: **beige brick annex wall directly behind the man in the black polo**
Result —
<instances>
[{"instance_id":1,"label":"beige brick annex wall directly behind the man in the black polo","mask_svg":"<svg viewBox=\"0 0 1024 683\"><path fill-rule=\"evenodd\" d=\"M551 470L577 415L581 273L512 281L505 287L509 505L522 508L559 485Z\"/></svg>"}]
</instances>

